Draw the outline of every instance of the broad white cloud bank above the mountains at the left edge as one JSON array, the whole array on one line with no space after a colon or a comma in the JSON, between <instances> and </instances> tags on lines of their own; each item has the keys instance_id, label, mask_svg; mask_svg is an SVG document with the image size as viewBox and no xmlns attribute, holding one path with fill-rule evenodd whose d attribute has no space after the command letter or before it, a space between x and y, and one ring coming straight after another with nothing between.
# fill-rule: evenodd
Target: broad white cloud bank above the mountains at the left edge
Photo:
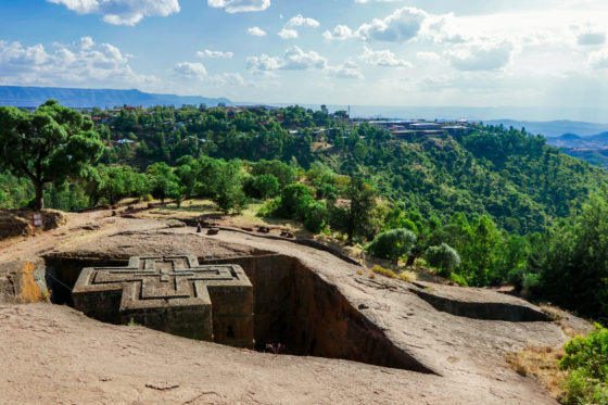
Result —
<instances>
[{"instance_id":1,"label":"broad white cloud bank above the mountains at the left edge","mask_svg":"<svg viewBox=\"0 0 608 405\"><path fill-rule=\"evenodd\" d=\"M24 47L0 41L0 84L118 88L159 84L154 76L134 73L128 56L110 43L96 45L90 37L84 37L75 45L53 47L55 51L49 52L42 45Z\"/></svg>"}]
</instances>

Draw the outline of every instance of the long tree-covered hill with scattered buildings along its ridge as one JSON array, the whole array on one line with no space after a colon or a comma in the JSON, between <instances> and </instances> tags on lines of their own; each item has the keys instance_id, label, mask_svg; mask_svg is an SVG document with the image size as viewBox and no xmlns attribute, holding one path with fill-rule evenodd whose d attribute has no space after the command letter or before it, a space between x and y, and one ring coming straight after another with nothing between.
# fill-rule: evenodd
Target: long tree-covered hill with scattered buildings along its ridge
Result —
<instances>
[{"instance_id":1,"label":"long tree-covered hill with scattered buildings along its ridge","mask_svg":"<svg viewBox=\"0 0 608 405\"><path fill-rule=\"evenodd\" d=\"M459 212L468 218L487 215L520 235L547 229L608 182L607 172L565 155L543 137L502 126L468 125L466 135L406 140L351 122L345 112L327 115L297 106L96 110L92 115L106 145L104 164L144 170L159 161L175 165L185 155L210 155L358 172L390 204L418 210L426 218L445 224ZM10 200L11 190L4 190Z\"/></svg>"}]
</instances>

